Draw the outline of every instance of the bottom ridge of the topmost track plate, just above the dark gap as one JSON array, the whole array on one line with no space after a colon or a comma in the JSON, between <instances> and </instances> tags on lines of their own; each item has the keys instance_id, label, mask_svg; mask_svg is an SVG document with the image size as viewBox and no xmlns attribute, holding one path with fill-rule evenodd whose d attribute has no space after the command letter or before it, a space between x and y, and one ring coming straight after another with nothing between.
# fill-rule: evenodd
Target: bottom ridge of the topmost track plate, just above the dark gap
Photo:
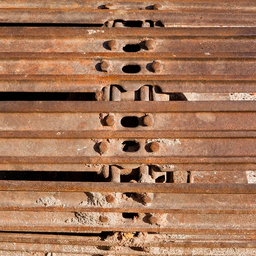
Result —
<instances>
[{"instance_id":1,"label":"bottom ridge of the topmost track plate, just above the dark gap","mask_svg":"<svg viewBox=\"0 0 256 256\"><path fill-rule=\"evenodd\" d=\"M0 22L2 23L105 23L113 20L152 20L160 21L164 25L203 25L203 26L255 26L255 5L243 3L246 11L233 9L191 9L190 3L185 8L162 10L117 10L117 9L51 9L45 5L42 8L0 8ZM232 5L232 2L231 2ZM148 3L147 3L148 6ZM241 5L240 5L241 6ZM146 6L145 6L146 7ZM212 7L212 6L211 6ZM241 7L240 7L241 8ZM248 15L250 14L250 15Z\"/></svg>"}]
</instances>

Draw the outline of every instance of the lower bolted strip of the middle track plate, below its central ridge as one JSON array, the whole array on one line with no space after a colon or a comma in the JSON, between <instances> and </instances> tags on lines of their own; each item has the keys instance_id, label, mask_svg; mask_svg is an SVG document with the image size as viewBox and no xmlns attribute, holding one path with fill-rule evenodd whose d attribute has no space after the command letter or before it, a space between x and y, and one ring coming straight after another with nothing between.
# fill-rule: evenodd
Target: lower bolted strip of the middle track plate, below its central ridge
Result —
<instances>
[{"instance_id":1,"label":"lower bolted strip of the middle track plate, below its central ridge","mask_svg":"<svg viewBox=\"0 0 256 256\"><path fill-rule=\"evenodd\" d=\"M175 157L197 159L212 158L214 162L232 157L238 163L254 163L256 158L256 138L201 138L201 139L161 139L157 141L159 149L151 149L155 140L137 139L133 149L125 151L130 138L104 141L106 151L102 153L99 142L94 139L25 139L0 138L0 163L173 163ZM128 147L128 146L127 146ZM132 158L135 159L131 160ZM193 161L190 161L192 163ZM180 163L186 163L181 160Z\"/></svg>"}]
</instances>

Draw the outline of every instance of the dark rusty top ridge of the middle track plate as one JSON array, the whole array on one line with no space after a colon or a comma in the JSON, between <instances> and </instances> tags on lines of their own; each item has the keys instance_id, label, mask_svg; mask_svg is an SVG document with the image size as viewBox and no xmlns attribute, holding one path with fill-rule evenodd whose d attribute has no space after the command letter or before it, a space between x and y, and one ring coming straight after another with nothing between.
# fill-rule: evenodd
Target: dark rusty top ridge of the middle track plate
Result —
<instances>
[{"instance_id":1,"label":"dark rusty top ridge of the middle track plate","mask_svg":"<svg viewBox=\"0 0 256 256\"><path fill-rule=\"evenodd\" d=\"M83 102L83 101L0 101L5 113L168 113L168 112L255 112L253 101L171 102ZM237 120L236 120L237 121ZM244 120L246 121L246 120Z\"/></svg>"}]
</instances>

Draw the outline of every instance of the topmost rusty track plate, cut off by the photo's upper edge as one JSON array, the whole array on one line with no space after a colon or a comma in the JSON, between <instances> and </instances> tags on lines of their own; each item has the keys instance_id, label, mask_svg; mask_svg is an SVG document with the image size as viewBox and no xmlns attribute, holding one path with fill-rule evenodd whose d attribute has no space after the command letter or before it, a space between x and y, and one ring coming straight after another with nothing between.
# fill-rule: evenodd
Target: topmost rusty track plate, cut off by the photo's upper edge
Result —
<instances>
[{"instance_id":1,"label":"topmost rusty track plate, cut off by the photo's upper edge","mask_svg":"<svg viewBox=\"0 0 256 256\"><path fill-rule=\"evenodd\" d=\"M95 3L93 3L95 2ZM103 10L102 10L103 9ZM255 26L255 3L221 1L76 1L31 4L1 1L2 23L101 23L114 20L151 20L164 25ZM113 23L111 23L112 25Z\"/></svg>"}]
</instances>

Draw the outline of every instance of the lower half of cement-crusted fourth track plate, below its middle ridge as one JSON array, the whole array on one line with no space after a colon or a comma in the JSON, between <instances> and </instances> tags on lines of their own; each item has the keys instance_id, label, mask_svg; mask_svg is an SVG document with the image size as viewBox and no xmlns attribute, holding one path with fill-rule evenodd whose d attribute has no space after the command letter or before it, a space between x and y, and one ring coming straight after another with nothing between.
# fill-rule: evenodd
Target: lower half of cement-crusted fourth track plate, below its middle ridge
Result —
<instances>
[{"instance_id":1,"label":"lower half of cement-crusted fourth track plate, below its middle ridge","mask_svg":"<svg viewBox=\"0 0 256 256\"><path fill-rule=\"evenodd\" d=\"M0 229L47 232L162 232L183 234L255 234L254 214L166 214L159 224L147 221L150 214L124 218L122 213L105 212L24 212L0 211ZM12 216L12 218L10 218Z\"/></svg>"}]
</instances>

